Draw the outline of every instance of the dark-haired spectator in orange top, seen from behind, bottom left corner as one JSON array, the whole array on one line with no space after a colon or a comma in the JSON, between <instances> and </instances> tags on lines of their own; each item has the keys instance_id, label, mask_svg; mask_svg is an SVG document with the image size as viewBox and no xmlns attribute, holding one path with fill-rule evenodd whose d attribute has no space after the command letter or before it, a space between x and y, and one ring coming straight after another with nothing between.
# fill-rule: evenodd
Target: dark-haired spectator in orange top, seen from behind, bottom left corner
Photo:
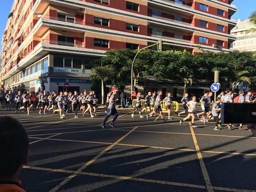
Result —
<instances>
[{"instance_id":1,"label":"dark-haired spectator in orange top, seen from behind, bottom left corner","mask_svg":"<svg viewBox=\"0 0 256 192\"><path fill-rule=\"evenodd\" d=\"M29 139L23 125L10 116L0 117L0 150L0 191L25 192L18 177L28 162Z\"/></svg>"}]
</instances>

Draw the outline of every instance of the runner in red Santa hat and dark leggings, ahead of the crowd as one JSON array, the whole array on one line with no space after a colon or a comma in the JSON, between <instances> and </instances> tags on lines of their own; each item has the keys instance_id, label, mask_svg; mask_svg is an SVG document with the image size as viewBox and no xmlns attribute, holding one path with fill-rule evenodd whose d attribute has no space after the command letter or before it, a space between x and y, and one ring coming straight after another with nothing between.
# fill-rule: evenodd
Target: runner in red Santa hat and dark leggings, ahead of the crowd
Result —
<instances>
[{"instance_id":1,"label":"runner in red Santa hat and dark leggings, ahead of the crowd","mask_svg":"<svg viewBox=\"0 0 256 192\"><path fill-rule=\"evenodd\" d=\"M108 118L110 117L110 115L114 115L114 118L113 118L112 122L109 125L113 128L116 127L116 126L114 126L114 122L116 121L116 119L118 117L118 113L117 113L117 110L116 110L116 101L119 100L118 98L116 98L116 92L117 92L117 89L115 89L115 88L113 88L111 90L111 93L113 93L113 94L109 98L108 113L106 114L106 117L104 119L103 124L101 124L101 127L103 129L106 129L105 124L106 124L106 121L108 121Z\"/></svg>"}]
</instances>

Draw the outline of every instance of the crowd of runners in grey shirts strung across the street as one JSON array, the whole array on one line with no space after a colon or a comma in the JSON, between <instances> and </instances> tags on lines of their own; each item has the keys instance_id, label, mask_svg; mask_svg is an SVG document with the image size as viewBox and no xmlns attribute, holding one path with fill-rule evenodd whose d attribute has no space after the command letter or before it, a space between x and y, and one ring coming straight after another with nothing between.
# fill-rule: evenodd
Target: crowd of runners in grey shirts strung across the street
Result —
<instances>
[{"instance_id":1,"label":"crowd of runners in grey shirts strung across the street","mask_svg":"<svg viewBox=\"0 0 256 192\"><path fill-rule=\"evenodd\" d=\"M180 117L182 114L185 117L180 120L180 125L189 118L192 120L192 127L197 127L195 125L195 118L197 117L199 121L202 121L204 125L207 124L208 120L213 119L215 122L214 130L221 130L222 127L220 119L221 119L221 104L225 102L256 102L256 93L252 93L252 91L248 91L244 94L244 91L240 90L239 93L235 93L231 90L221 91L218 95L216 101L212 101L212 92L204 92L202 98L200 98L201 108L197 108L196 96L188 97L188 93L184 94L184 97L181 99L182 106L184 108L183 112L178 113ZM171 104L172 104L172 94L169 92L166 94L166 97L163 97L163 93L161 90L155 93L148 92L146 97L142 98L141 93L136 94L136 104L135 109L133 110L131 116L135 117L135 113L139 112L139 117L144 118L143 112L146 114L147 120L151 117L156 116L155 113L159 112L160 117L162 118L162 122L167 120L172 120L171 117ZM144 106L142 104L143 99L145 100ZM38 93L34 93L33 91L24 91L21 93L20 91L14 91L12 93L10 90L7 92L0 91L0 108L2 108L3 103L6 105L6 110L10 110L11 108L15 108L15 112L21 112L24 110L28 115L31 114L30 111L38 110L38 113L46 114L48 112L59 113L60 118L65 117L65 113L75 112L74 118L78 118L78 111L82 112L84 116L87 112L90 114L91 118L97 116L97 97L94 91L89 91L89 93L78 93L74 91L71 92L60 92L56 93L56 91L52 91L51 93L46 91L40 91ZM110 115L114 115L112 122L109 124L111 127L114 126L114 121L118 117L118 113L116 110L116 102L119 101L117 98L117 89L112 89L110 93L107 94L106 98L106 117L101 125L103 129L105 129L105 123L110 117ZM122 98L121 98L122 101ZM165 103L166 110L162 110L162 102ZM212 105L212 109L211 109ZM122 105L123 108L124 105ZM200 109L202 112L199 112ZM149 112L147 112L149 111ZM163 113L167 113L168 117L163 118ZM231 127L234 127L233 124L227 124L227 127L231 130ZM246 130L247 128L243 127L242 124L239 125L239 129Z\"/></svg>"}]
</instances>

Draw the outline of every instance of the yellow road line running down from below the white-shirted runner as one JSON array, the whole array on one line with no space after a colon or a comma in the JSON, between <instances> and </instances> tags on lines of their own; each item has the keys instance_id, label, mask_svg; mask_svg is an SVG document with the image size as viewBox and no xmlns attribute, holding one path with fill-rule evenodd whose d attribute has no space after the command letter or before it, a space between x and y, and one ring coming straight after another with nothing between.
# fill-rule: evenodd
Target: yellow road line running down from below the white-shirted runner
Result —
<instances>
[{"instance_id":1,"label":"yellow road line running down from below the white-shirted runner","mask_svg":"<svg viewBox=\"0 0 256 192\"><path fill-rule=\"evenodd\" d=\"M200 167L201 167L201 170L202 170L202 173L203 173L204 181L206 183L206 189L207 189L208 192L214 192L214 189L211 185L211 180L210 180L209 174L207 172L206 166L204 164L203 156L201 154L201 151L200 151L199 145L197 143L196 136L195 136L193 127L191 126L191 123L189 123L189 127L190 127L190 130L191 130L191 133L192 133L192 138L193 138L193 141L194 141L194 144L195 144L196 154L197 154L197 157L199 159L199 163L200 163Z\"/></svg>"}]
</instances>

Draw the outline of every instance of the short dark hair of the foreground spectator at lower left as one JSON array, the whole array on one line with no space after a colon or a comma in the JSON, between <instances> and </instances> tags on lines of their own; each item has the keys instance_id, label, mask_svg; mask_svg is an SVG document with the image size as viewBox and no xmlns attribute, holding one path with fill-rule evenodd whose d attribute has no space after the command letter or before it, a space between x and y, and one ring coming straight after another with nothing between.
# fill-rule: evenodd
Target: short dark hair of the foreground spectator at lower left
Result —
<instances>
[{"instance_id":1,"label":"short dark hair of the foreground spectator at lower left","mask_svg":"<svg viewBox=\"0 0 256 192\"><path fill-rule=\"evenodd\" d=\"M0 117L0 151L0 178L11 177L29 151L25 128L11 116Z\"/></svg>"}]
</instances>

